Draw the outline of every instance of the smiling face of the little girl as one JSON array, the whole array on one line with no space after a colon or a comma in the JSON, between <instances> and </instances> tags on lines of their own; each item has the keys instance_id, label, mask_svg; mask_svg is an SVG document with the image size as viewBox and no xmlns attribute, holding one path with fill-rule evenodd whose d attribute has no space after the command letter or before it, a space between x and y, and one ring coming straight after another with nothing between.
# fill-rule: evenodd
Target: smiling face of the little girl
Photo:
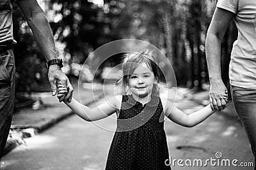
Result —
<instances>
[{"instance_id":1,"label":"smiling face of the little girl","mask_svg":"<svg viewBox=\"0 0 256 170\"><path fill-rule=\"evenodd\" d=\"M129 89L137 97L151 96L154 83L157 81L147 64L140 64L129 77Z\"/></svg>"}]
</instances>

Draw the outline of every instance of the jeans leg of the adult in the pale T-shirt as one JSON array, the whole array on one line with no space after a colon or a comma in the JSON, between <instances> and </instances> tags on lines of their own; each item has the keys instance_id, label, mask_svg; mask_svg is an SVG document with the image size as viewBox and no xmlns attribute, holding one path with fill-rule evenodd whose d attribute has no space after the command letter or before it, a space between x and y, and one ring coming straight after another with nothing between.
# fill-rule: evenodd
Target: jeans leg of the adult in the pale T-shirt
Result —
<instances>
[{"instance_id":1,"label":"jeans leg of the adult in the pale T-shirt","mask_svg":"<svg viewBox=\"0 0 256 170\"><path fill-rule=\"evenodd\" d=\"M236 86L231 87L231 94L237 114L250 141L252 152L256 154L256 90Z\"/></svg>"}]
</instances>

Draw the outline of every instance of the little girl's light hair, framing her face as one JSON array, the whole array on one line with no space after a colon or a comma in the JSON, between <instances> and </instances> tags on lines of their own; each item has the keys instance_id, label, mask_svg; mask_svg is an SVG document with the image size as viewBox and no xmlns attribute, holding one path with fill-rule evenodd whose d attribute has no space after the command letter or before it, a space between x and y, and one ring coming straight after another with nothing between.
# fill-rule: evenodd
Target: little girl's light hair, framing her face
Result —
<instances>
[{"instance_id":1,"label":"little girl's light hair, framing her face","mask_svg":"<svg viewBox=\"0 0 256 170\"><path fill-rule=\"evenodd\" d=\"M123 76L116 81L116 85L121 85L120 94L126 95L129 91L129 78L134 70L140 66L141 64L145 63L148 68L154 74L157 83L154 83L152 89L152 95L159 96L159 78L160 78L160 71L159 67L157 66L156 57L154 57L152 51L143 50L141 52L132 52L126 53L124 55L124 60L122 62L122 71Z\"/></svg>"}]
</instances>

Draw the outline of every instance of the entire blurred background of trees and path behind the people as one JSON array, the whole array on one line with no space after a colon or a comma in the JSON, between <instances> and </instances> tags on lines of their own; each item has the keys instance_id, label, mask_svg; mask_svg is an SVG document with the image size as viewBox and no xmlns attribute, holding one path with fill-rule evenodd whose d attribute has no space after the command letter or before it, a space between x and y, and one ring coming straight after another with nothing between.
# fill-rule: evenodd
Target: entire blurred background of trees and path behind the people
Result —
<instances>
[{"instance_id":1,"label":"entire blurred background of trees and path behind the people","mask_svg":"<svg viewBox=\"0 0 256 170\"><path fill-rule=\"evenodd\" d=\"M113 96L113 82L122 74L120 67L115 67L120 64L122 53L100 64L95 75L90 66L103 57L96 60L92 57L90 66L83 66L84 61L91 59L90 54L100 46L118 39L147 41L168 57L177 78L177 91L168 89L177 96L168 99L173 99L177 108L189 114L209 104L205 37L217 0L37 1L49 20L56 50L64 62L63 71L74 87L73 97L86 106L94 108ZM21 11L14 5L15 114L1 169L104 169L116 129L116 115L93 123L84 122L59 103L57 97L51 96L45 59ZM221 44L221 73L227 87L230 53L236 38L237 29L232 22ZM77 85L78 78L81 87ZM95 87L92 81L97 82L93 83ZM221 152L225 159L254 162L232 101L225 110L216 112L192 129L166 119L164 129L173 159L207 160ZM176 170L216 168L172 167Z\"/></svg>"}]
</instances>

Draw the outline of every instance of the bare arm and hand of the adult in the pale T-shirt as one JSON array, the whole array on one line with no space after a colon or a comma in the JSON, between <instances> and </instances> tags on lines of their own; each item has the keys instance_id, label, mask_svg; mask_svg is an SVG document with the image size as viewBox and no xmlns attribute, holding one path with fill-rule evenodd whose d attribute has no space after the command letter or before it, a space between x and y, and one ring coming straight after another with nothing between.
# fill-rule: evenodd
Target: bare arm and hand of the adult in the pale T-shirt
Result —
<instances>
[{"instance_id":1,"label":"bare arm and hand of the adult in the pale T-shirt","mask_svg":"<svg viewBox=\"0 0 256 170\"><path fill-rule=\"evenodd\" d=\"M227 102L223 95L227 91L221 80L221 41L234 13L216 8L205 41L205 52L210 78L210 103L212 110L221 110Z\"/></svg>"}]
</instances>

